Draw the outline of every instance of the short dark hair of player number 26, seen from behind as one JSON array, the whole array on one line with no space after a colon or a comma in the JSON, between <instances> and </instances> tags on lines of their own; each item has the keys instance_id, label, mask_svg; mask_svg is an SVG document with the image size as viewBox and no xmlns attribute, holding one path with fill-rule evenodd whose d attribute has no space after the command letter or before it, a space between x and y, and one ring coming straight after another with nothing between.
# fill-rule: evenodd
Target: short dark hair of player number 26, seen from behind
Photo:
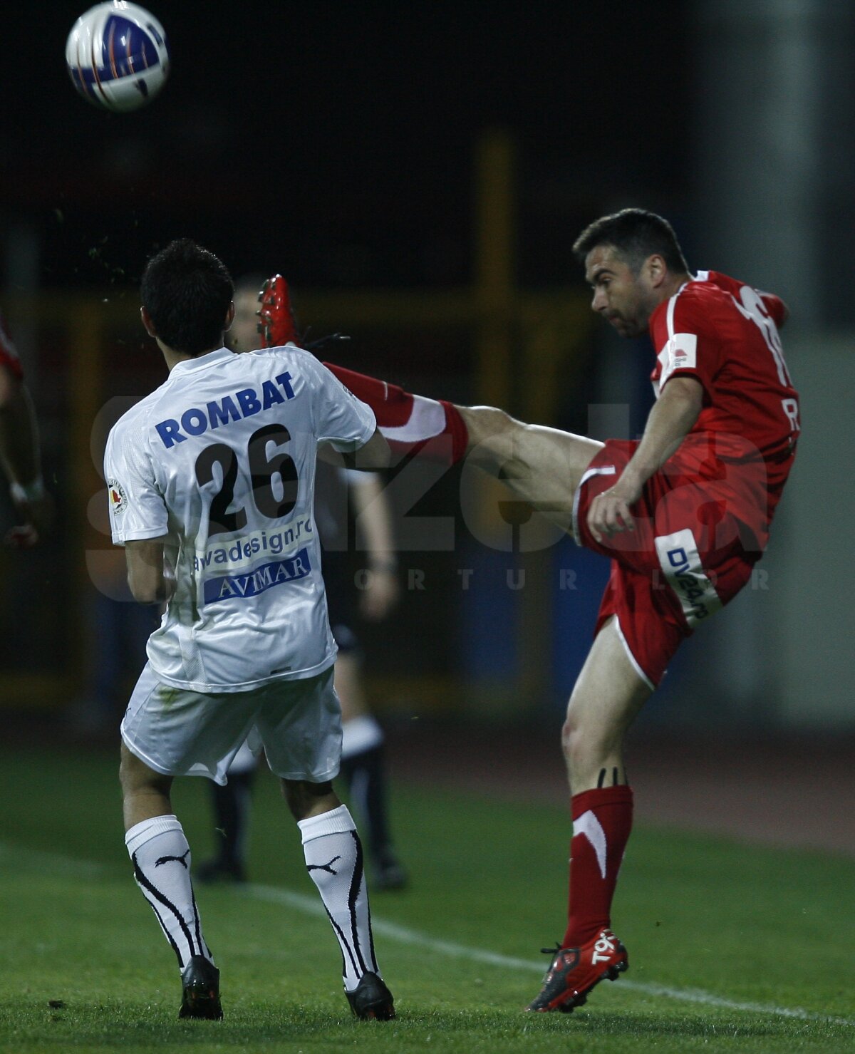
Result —
<instances>
[{"instance_id":1,"label":"short dark hair of player number 26, seen from behind","mask_svg":"<svg viewBox=\"0 0 855 1054\"><path fill-rule=\"evenodd\" d=\"M168 347L198 355L220 344L234 284L226 265L191 238L176 238L152 256L139 292Z\"/></svg>"}]
</instances>

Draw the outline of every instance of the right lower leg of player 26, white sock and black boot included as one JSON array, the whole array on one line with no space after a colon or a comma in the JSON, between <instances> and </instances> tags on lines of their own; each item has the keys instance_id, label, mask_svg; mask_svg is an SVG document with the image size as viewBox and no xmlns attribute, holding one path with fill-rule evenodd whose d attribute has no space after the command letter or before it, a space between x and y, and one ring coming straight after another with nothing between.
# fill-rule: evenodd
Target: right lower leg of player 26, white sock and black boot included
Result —
<instances>
[{"instance_id":1,"label":"right lower leg of player 26, white sock and black boot included","mask_svg":"<svg viewBox=\"0 0 855 1054\"><path fill-rule=\"evenodd\" d=\"M342 949L343 981L350 1008L363 1019L391 1020L395 1016L394 1001L374 955L365 861L356 825L331 784L283 780L283 786L297 818L306 867Z\"/></svg>"}]
</instances>

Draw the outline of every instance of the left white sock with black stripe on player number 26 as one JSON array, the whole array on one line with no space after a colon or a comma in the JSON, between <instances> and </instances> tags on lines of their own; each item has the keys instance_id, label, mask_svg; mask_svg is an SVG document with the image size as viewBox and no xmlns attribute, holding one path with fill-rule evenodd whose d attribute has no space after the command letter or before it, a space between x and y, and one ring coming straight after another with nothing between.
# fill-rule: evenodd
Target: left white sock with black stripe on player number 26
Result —
<instances>
[{"instance_id":1,"label":"left white sock with black stripe on player number 26","mask_svg":"<svg viewBox=\"0 0 855 1054\"><path fill-rule=\"evenodd\" d=\"M124 836L124 844L137 885L172 944L179 969L193 955L213 962L190 881L190 845L177 817L155 816L135 824Z\"/></svg>"}]
</instances>

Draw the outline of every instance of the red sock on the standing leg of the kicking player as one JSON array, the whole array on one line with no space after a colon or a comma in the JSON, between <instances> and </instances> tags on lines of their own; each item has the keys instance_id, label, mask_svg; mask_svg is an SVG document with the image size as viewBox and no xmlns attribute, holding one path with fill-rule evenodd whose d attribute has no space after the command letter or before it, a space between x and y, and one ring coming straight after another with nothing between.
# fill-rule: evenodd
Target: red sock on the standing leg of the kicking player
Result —
<instances>
[{"instance_id":1,"label":"red sock on the standing leg of the kicking player","mask_svg":"<svg viewBox=\"0 0 855 1054\"><path fill-rule=\"evenodd\" d=\"M633 790L622 785L574 795L570 898L562 948L579 948L611 926L611 898L633 828Z\"/></svg>"}]
</instances>

